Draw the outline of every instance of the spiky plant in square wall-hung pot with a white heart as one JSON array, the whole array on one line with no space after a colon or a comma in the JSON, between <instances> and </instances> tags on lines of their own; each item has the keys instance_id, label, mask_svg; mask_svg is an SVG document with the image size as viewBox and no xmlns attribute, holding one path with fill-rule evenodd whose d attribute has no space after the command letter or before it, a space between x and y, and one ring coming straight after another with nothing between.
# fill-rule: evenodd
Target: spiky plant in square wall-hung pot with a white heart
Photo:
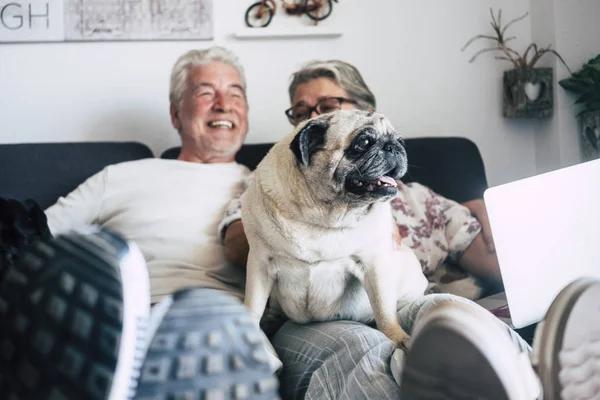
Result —
<instances>
[{"instance_id":1,"label":"spiky plant in square wall-hung pot with a white heart","mask_svg":"<svg viewBox=\"0 0 600 400\"><path fill-rule=\"evenodd\" d=\"M531 43L522 55L509 47L508 42L516 37L507 37L506 31L514 23L525 19L529 15L528 12L508 21L504 26L502 25L501 9L498 10L498 15L494 15L494 10L490 8L490 15L493 35L474 36L469 39L461 51L479 39L491 40L492 46L479 50L469 62L472 63L483 53L500 52L502 54L496 55L495 58L508 61L513 65L513 69L504 71L503 114L505 117L542 118L552 116L554 111L552 68L535 68L535 65L545 54L551 53L558 57L567 70L569 67L551 46L540 48L537 44Z\"/></svg>"}]
</instances>

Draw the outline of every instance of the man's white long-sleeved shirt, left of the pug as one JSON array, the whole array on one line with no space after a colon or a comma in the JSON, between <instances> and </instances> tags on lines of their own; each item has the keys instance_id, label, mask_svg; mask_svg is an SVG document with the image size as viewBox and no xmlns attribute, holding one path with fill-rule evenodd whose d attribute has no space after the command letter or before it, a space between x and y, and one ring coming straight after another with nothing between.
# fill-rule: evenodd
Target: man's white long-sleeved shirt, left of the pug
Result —
<instances>
[{"instance_id":1,"label":"man's white long-sleeved shirt, left of the pug","mask_svg":"<svg viewBox=\"0 0 600 400\"><path fill-rule=\"evenodd\" d=\"M54 236L100 225L135 242L148 264L153 303L189 286L243 299L244 272L226 261L218 226L249 174L236 163L112 165L48 208L48 225Z\"/></svg>"}]
</instances>

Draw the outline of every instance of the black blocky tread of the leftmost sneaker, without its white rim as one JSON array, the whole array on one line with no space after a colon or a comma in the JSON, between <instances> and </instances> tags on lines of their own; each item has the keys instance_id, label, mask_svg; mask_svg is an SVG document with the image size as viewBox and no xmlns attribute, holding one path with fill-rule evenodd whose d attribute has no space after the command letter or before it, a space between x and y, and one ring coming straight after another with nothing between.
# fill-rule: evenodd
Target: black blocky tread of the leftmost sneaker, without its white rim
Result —
<instances>
[{"instance_id":1,"label":"black blocky tread of the leftmost sneaker, without its white rim","mask_svg":"<svg viewBox=\"0 0 600 400\"><path fill-rule=\"evenodd\" d=\"M106 248L78 235L38 241L7 271L0 282L0 393L14 400L107 398L123 296L118 247Z\"/></svg>"}]
</instances>

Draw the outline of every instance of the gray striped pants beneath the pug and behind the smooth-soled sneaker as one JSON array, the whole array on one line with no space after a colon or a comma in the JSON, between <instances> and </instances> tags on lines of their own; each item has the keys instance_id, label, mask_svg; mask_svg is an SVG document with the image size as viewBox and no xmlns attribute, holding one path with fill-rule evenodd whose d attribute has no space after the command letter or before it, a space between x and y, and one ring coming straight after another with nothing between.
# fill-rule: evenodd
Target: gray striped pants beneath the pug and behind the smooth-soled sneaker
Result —
<instances>
[{"instance_id":1,"label":"gray striped pants beneath the pug and behind the smooth-soled sneaker","mask_svg":"<svg viewBox=\"0 0 600 400\"><path fill-rule=\"evenodd\" d=\"M398 320L411 333L429 308L442 301L479 305L458 296L430 294L400 304ZM520 351L529 345L501 324ZM400 387L392 376L395 344L364 324L334 321L298 325L287 322L272 339L283 361L281 394L284 399L399 399ZM400 368L401 366L397 366Z\"/></svg>"}]
</instances>

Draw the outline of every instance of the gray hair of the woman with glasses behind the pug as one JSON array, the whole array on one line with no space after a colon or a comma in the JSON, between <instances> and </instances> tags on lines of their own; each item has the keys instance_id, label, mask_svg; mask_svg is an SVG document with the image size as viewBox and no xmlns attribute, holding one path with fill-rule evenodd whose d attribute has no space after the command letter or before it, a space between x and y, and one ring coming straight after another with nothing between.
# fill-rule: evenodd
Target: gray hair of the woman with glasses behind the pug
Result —
<instances>
[{"instance_id":1,"label":"gray hair of the woman with glasses behind the pug","mask_svg":"<svg viewBox=\"0 0 600 400\"><path fill-rule=\"evenodd\" d=\"M340 60L310 61L292 75L288 89L290 103L298 86L318 78L332 79L357 102L362 110L375 110L375 95L363 80L360 72L352 64Z\"/></svg>"}]
</instances>

